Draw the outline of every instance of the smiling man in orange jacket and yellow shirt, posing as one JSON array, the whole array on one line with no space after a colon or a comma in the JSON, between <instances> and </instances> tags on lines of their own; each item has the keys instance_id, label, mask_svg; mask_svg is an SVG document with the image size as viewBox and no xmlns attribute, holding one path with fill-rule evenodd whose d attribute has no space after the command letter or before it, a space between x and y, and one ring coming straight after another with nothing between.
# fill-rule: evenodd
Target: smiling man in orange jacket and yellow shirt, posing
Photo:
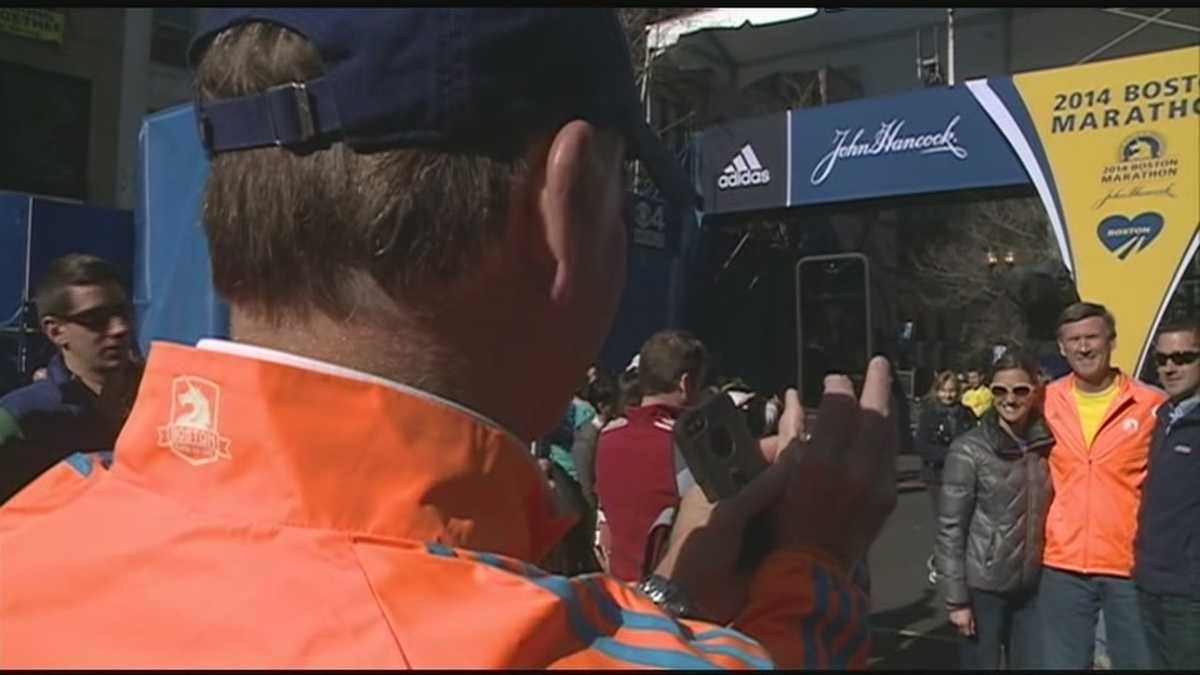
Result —
<instances>
[{"instance_id":1,"label":"smiling man in orange jacket and yellow shirt, posing","mask_svg":"<svg viewBox=\"0 0 1200 675\"><path fill-rule=\"evenodd\" d=\"M1092 667L1102 609L1112 667L1150 667L1133 544L1154 411L1166 395L1112 368L1115 344L1116 321L1104 306L1063 310L1058 348L1072 374L1046 388L1045 401L1055 437L1038 597L1048 668Z\"/></svg>"}]
</instances>

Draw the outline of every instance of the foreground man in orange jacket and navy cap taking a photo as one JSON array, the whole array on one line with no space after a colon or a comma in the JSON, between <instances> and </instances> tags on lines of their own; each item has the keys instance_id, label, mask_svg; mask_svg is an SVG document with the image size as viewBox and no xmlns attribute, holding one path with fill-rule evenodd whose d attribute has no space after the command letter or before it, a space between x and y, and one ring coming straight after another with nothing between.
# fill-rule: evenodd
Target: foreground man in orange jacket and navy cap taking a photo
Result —
<instances>
[{"instance_id":1,"label":"foreground man in orange jacket and navy cap taking a photo","mask_svg":"<svg viewBox=\"0 0 1200 675\"><path fill-rule=\"evenodd\" d=\"M156 344L112 468L11 502L0 668L865 665L886 359L803 443L792 393L774 466L689 490L654 575L530 565L571 519L528 442L613 318L625 159L691 198L613 11L226 8L191 58L235 341Z\"/></svg>"}]
</instances>

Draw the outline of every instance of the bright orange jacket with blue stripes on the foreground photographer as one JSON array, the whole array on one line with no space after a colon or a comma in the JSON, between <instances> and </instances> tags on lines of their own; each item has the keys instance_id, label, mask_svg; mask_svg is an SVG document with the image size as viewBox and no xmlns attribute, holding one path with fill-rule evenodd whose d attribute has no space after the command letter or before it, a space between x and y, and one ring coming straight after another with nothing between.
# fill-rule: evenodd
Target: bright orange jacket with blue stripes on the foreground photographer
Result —
<instances>
[{"instance_id":1,"label":"bright orange jacket with blue stripes on the foreground photographer","mask_svg":"<svg viewBox=\"0 0 1200 675\"><path fill-rule=\"evenodd\" d=\"M866 599L818 557L769 557L732 629L673 621L526 562L569 522L487 420L205 347L155 345L112 470L0 531L0 669L866 664Z\"/></svg>"}]
</instances>

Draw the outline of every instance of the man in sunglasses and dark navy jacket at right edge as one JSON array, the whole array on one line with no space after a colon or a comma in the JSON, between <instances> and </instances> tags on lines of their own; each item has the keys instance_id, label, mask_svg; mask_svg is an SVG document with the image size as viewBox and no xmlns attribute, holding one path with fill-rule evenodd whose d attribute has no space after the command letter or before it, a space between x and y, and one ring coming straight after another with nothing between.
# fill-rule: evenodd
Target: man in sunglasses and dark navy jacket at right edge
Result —
<instances>
[{"instance_id":1,"label":"man in sunglasses and dark navy jacket at right edge","mask_svg":"<svg viewBox=\"0 0 1200 675\"><path fill-rule=\"evenodd\" d=\"M1158 408L1138 512L1134 581L1154 669L1200 670L1200 321L1154 342Z\"/></svg>"}]
</instances>

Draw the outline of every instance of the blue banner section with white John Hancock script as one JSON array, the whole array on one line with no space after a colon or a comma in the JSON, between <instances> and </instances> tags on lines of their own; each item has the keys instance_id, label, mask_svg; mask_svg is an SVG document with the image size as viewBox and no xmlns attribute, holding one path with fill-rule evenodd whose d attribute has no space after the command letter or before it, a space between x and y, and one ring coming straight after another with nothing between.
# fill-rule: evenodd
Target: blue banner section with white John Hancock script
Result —
<instances>
[{"instance_id":1,"label":"blue banner section with white John Hancock script","mask_svg":"<svg viewBox=\"0 0 1200 675\"><path fill-rule=\"evenodd\" d=\"M966 88L791 112L787 205L1030 181Z\"/></svg>"}]
</instances>

